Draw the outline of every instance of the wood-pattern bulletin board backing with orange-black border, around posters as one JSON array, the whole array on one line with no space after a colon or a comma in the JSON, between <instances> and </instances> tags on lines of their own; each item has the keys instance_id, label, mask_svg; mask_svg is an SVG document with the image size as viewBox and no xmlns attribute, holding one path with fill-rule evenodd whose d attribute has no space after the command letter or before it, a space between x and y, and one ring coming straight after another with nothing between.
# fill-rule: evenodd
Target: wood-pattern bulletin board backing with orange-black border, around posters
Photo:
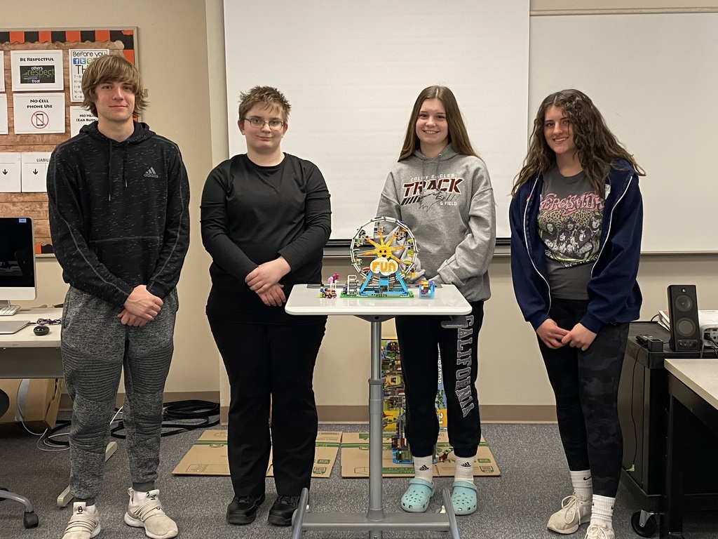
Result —
<instances>
[{"instance_id":1,"label":"wood-pattern bulletin board backing with orange-black border, around posters","mask_svg":"<svg viewBox=\"0 0 718 539\"><path fill-rule=\"evenodd\" d=\"M124 55L132 63L135 58L136 29L98 30L2 30L0 50L4 54L5 93L8 106L8 133L0 134L0 152L52 152L70 138L70 72L67 60L70 49L108 49L111 54ZM11 77L12 50L62 50L62 73L65 78L65 133L15 134ZM35 243L42 252L52 252L50 222L47 217L47 193L0 193L0 216L32 217ZM37 247L36 247L37 249Z\"/></svg>"}]
</instances>

